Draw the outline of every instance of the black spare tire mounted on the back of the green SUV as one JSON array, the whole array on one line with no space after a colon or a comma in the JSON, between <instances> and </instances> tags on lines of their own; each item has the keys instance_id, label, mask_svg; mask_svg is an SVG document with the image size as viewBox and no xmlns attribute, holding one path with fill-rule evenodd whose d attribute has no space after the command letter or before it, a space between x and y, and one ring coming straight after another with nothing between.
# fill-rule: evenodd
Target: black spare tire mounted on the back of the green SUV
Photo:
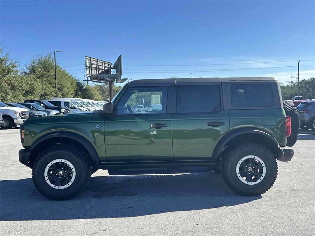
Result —
<instances>
[{"instance_id":1,"label":"black spare tire mounted on the back of the green SUV","mask_svg":"<svg viewBox=\"0 0 315 236\"><path fill-rule=\"evenodd\" d=\"M297 138L299 137L300 132L299 114L297 113L295 105L291 101L283 101L283 109L285 111L285 115L291 117L291 135L287 137L287 146L292 147L296 143Z\"/></svg>"}]
</instances>

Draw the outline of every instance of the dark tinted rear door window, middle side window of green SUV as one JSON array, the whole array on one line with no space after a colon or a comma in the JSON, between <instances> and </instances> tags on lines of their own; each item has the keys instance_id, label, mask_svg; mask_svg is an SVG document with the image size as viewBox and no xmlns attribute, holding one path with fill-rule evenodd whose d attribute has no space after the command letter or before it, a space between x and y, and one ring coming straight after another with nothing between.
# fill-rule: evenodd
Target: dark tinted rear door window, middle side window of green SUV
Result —
<instances>
[{"instance_id":1,"label":"dark tinted rear door window, middle side window of green SUV","mask_svg":"<svg viewBox=\"0 0 315 236\"><path fill-rule=\"evenodd\" d=\"M221 110L217 85L176 87L177 113L209 113Z\"/></svg>"}]
</instances>

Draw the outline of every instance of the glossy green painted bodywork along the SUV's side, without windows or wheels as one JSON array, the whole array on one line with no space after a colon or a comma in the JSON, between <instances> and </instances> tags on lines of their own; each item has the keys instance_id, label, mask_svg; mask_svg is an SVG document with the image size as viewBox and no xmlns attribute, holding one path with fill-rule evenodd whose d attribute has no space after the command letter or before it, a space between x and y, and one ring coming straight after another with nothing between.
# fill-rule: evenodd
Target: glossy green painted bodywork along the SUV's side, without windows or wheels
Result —
<instances>
[{"instance_id":1,"label":"glossy green painted bodywork along the SUV's side, without windows or wheels","mask_svg":"<svg viewBox=\"0 0 315 236\"><path fill-rule=\"evenodd\" d=\"M129 84L125 84L112 100L114 109ZM279 91L275 93L279 97ZM225 109L226 100L222 100L221 97L221 111L214 113L100 115L98 112L78 112L35 117L23 124L22 145L30 149L45 135L74 133L93 146L100 163L215 160L214 150L219 141L242 128L265 132L279 147L286 145L282 105L270 109L234 110ZM209 126L209 122L222 122L223 125ZM150 127L155 123L167 124L167 127Z\"/></svg>"}]
</instances>

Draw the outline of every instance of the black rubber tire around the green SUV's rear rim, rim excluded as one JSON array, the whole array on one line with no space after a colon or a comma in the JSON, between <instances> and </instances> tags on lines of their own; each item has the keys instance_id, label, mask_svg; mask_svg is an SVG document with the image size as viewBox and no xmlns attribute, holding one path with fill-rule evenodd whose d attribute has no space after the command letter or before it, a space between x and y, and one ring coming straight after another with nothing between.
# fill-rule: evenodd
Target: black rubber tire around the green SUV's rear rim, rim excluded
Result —
<instances>
[{"instance_id":1,"label":"black rubber tire around the green SUV's rear rim, rim excluded","mask_svg":"<svg viewBox=\"0 0 315 236\"><path fill-rule=\"evenodd\" d=\"M243 183L236 172L238 162L247 155L255 155L263 160L266 173L261 182L255 185ZM268 191L277 178L278 165L269 149L258 143L244 143L233 148L221 161L221 174L224 182L234 192L245 196L257 196Z\"/></svg>"}]
</instances>

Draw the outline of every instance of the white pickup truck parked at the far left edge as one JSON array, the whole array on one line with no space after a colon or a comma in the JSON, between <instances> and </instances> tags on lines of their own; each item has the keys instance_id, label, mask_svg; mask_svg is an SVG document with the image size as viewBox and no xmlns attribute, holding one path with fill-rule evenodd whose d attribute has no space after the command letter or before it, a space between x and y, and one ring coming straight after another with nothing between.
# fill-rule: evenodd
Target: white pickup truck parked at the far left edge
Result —
<instances>
[{"instance_id":1,"label":"white pickup truck parked at the far left edge","mask_svg":"<svg viewBox=\"0 0 315 236\"><path fill-rule=\"evenodd\" d=\"M28 118L28 110L20 107L9 107L0 102L0 113L2 114L3 123L1 128L10 129L12 126L17 127L23 124Z\"/></svg>"}]
</instances>

